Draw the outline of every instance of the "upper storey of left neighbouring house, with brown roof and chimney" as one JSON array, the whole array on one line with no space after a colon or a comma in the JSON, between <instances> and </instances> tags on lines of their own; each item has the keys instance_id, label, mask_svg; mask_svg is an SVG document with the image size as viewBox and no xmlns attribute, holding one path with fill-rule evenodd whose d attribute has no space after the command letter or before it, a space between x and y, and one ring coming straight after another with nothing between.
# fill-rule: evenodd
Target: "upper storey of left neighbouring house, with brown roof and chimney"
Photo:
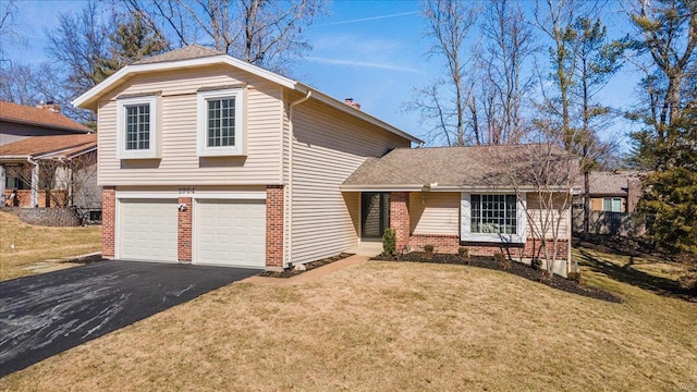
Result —
<instances>
[{"instance_id":1,"label":"upper storey of left neighbouring house, with brown roof and chimney","mask_svg":"<svg viewBox=\"0 0 697 392\"><path fill-rule=\"evenodd\" d=\"M60 106L39 107L0 101L0 146L30 136L74 135L91 132L61 114Z\"/></svg>"}]
</instances>

